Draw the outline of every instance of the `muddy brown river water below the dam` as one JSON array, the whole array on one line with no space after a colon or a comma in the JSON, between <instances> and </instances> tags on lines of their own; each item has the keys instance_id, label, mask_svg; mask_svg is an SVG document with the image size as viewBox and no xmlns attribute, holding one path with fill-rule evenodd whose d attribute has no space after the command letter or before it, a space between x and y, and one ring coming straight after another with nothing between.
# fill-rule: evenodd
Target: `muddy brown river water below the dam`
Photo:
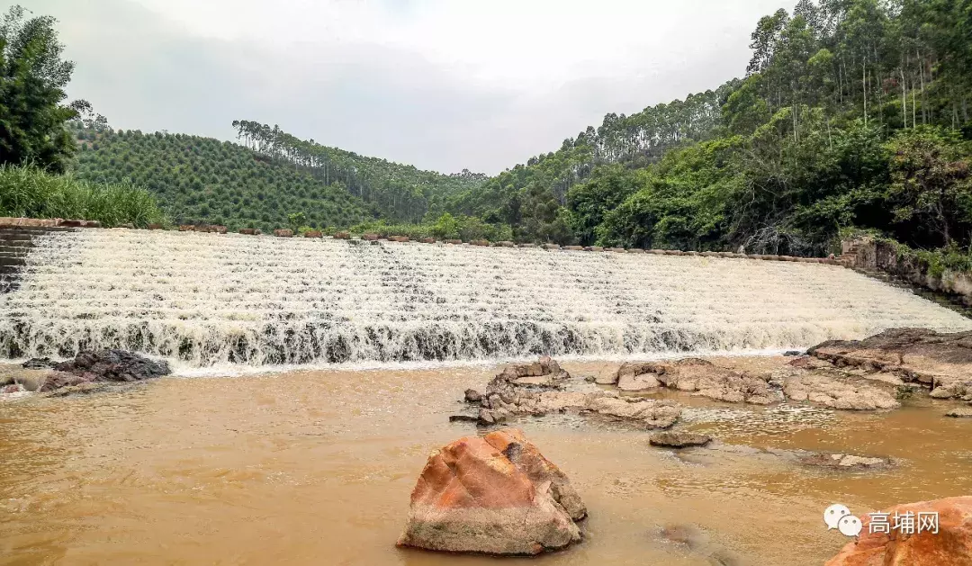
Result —
<instances>
[{"instance_id":1,"label":"muddy brown river water below the dam","mask_svg":"<svg viewBox=\"0 0 972 566\"><path fill-rule=\"evenodd\" d=\"M760 364L770 363L766 360ZM565 364L574 374L616 365ZM494 368L169 377L127 391L0 403L0 564L820 564L863 515L972 493L972 419L923 399L884 413L742 407L669 394L685 426L731 445L891 456L878 473L745 450L652 447L579 417L519 421L590 512L583 544L535 559L399 549L429 452ZM689 548L661 526L698 525Z\"/></svg>"}]
</instances>

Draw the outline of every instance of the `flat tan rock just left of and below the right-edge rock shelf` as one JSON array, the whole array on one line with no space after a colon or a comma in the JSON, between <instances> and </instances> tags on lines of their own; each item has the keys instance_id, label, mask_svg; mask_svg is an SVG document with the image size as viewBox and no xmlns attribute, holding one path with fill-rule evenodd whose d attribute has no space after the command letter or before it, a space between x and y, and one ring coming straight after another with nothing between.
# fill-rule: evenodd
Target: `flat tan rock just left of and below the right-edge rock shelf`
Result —
<instances>
[{"instance_id":1,"label":"flat tan rock just left of and below the right-edge rock shelf","mask_svg":"<svg viewBox=\"0 0 972 566\"><path fill-rule=\"evenodd\" d=\"M796 371L783 378L783 395L823 407L848 410L897 408L890 385L833 370Z\"/></svg>"}]
</instances>

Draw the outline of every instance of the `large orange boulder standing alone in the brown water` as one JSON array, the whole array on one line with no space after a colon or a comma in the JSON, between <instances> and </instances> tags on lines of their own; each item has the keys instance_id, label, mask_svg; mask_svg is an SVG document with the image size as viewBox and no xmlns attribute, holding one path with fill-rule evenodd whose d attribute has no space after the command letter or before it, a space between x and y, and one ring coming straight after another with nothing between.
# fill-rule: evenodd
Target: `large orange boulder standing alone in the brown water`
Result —
<instances>
[{"instance_id":1,"label":"large orange boulder standing alone in the brown water","mask_svg":"<svg viewBox=\"0 0 972 566\"><path fill-rule=\"evenodd\" d=\"M399 547L538 554L581 539L570 480L518 429L435 450L412 490Z\"/></svg>"}]
</instances>

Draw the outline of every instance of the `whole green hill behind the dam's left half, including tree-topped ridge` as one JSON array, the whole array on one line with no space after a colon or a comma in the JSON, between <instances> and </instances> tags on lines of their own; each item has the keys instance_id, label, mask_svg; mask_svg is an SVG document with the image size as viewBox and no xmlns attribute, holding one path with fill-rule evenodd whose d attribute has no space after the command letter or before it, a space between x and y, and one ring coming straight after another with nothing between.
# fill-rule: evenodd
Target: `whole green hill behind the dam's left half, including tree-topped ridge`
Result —
<instances>
[{"instance_id":1,"label":"whole green hill behind the dam's left half, including tree-topped ridge","mask_svg":"<svg viewBox=\"0 0 972 566\"><path fill-rule=\"evenodd\" d=\"M242 124L245 145L185 134L114 130L75 123L77 176L132 182L156 195L173 222L262 230L303 214L311 228L383 219L420 222L445 195L485 180L442 175L302 141L278 127ZM435 210L433 210L435 212Z\"/></svg>"}]
</instances>

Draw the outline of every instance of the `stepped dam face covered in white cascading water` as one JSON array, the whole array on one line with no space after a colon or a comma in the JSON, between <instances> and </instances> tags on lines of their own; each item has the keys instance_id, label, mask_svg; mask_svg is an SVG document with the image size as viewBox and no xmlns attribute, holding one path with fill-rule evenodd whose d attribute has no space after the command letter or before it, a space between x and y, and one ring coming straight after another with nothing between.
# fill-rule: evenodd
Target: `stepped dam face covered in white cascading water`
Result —
<instances>
[{"instance_id":1,"label":"stepped dam face covered in white cascading water","mask_svg":"<svg viewBox=\"0 0 972 566\"><path fill-rule=\"evenodd\" d=\"M88 229L35 234L17 264L3 275L0 357L639 357L972 329L850 269L749 259Z\"/></svg>"}]
</instances>

